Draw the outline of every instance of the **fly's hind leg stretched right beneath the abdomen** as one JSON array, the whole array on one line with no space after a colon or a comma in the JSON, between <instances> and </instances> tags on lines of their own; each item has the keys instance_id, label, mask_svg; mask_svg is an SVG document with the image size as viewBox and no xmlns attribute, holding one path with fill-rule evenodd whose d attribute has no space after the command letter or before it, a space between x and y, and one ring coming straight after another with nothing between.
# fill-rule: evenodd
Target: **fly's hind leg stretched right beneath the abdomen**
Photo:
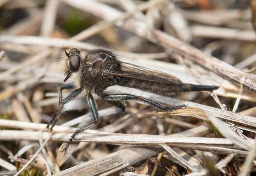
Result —
<instances>
[{"instance_id":1,"label":"fly's hind leg stretched right beneath the abdomen","mask_svg":"<svg viewBox=\"0 0 256 176\"><path fill-rule=\"evenodd\" d=\"M120 100L139 100L139 101L143 101L147 104L150 104L152 106L155 106L161 110L178 110L181 108L185 108L187 107L186 105L179 105L179 106L170 106L170 107L166 107L158 102L154 102L152 100L149 100L147 98L141 97L141 96L137 96L137 95L132 95L132 94L103 94L102 98L109 100L109 101L120 101Z\"/></svg>"}]
</instances>

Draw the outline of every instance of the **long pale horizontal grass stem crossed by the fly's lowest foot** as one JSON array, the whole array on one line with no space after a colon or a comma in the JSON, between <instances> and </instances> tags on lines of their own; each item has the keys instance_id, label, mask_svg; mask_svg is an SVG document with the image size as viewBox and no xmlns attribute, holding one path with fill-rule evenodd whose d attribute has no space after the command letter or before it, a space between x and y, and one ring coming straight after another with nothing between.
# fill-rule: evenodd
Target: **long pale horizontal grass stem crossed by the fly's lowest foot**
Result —
<instances>
[{"instance_id":1,"label":"long pale horizontal grass stem crossed by the fly's lowest foot","mask_svg":"<svg viewBox=\"0 0 256 176\"><path fill-rule=\"evenodd\" d=\"M73 130L74 131L74 130ZM2 130L1 139L2 140L21 140L25 136L26 140L39 140L39 132L32 131L19 131ZM85 131L86 132L86 131ZM15 135L16 134L16 135ZM28 136L30 134L30 136ZM68 141L71 133L55 133L51 137L54 141ZM48 137L47 132L43 132L42 137L46 140ZM229 139L221 138L204 138L204 137L168 137L168 136L158 136L149 134L121 134L121 133L81 133L77 135L74 142L100 142L108 144L130 144L130 145L157 145L157 144L168 144L168 145L182 145L182 144L205 144L211 146L223 146L230 147L233 146L233 142ZM248 140L247 143L252 144L254 140Z\"/></svg>"}]
</instances>

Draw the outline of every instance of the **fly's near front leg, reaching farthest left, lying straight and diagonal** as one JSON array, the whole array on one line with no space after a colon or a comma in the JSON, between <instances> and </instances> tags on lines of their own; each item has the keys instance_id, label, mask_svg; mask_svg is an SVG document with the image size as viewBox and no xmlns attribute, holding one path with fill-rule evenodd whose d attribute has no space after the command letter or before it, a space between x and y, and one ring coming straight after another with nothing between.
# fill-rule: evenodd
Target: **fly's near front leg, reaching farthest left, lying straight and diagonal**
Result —
<instances>
[{"instance_id":1,"label":"fly's near front leg, reaching farthest left, lying straight and diagonal","mask_svg":"<svg viewBox=\"0 0 256 176\"><path fill-rule=\"evenodd\" d=\"M72 93L70 93L69 96L67 96L63 102L60 103L59 107L57 108L57 110L55 110L53 116L51 117L50 121L47 124L47 129L49 129L50 131L52 130L52 128L56 125L57 119L61 116L61 113L63 111L63 106L70 102L71 100L73 100L74 98L76 98L83 90L84 88L77 88L75 89Z\"/></svg>"}]
</instances>

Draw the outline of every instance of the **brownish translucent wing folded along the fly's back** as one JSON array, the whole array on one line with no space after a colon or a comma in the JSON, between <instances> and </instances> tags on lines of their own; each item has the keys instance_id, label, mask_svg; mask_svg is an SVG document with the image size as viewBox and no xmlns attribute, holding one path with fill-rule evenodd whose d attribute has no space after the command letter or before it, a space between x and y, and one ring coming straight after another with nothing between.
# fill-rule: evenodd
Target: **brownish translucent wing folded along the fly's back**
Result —
<instances>
[{"instance_id":1,"label":"brownish translucent wing folded along the fly's back","mask_svg":"<svg viewBox=\"0 0 256 176\"><path fill-rule=\"evenodd\" d=\"M121 70L118 72L109 72L110 75L116 75L120 77L129 77L139 80L146 80L151 82L163 83L167 85L181 85L182 81L173 76L161 71L145 68L142 66L136 66L129 63L121 63Z\"/></svg>"}]
</instances>

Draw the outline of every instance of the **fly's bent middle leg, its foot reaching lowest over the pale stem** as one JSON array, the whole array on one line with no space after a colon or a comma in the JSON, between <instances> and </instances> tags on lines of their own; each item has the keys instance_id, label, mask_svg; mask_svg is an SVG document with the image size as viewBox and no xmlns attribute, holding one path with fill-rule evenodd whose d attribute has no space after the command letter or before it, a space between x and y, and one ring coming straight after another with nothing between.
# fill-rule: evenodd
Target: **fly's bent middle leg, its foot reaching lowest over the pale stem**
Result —
<instances>
[{"instance_id":1,"label":"fly's bent middle leg, its foot reaching lowest over the pale stem","mask_svg":"<svg viewBox=\"0 0 256 176\"><path fill-rule=\"evenodd\" d=\"M92 115L93 115L93 120L94 120L94 123L93 124L89 124L89 125L85 125L83 127L80 127L79 129L77 129L73 134L72 136L70 137L70 140L67 142L66 146L64 147L64 151L66 152L70 143L72 142L72 140L74 139L74 137L79 133L79 132L83 132L91 127L93 127L94 125L96 125L99 121L99 116L98 116L98 109L97 109L97 105L96 105L96 102L92 96L91 93L88 93L87 94L87 102L88 102L88 106L92 112Z\"/></svg>"}]
</instances>

